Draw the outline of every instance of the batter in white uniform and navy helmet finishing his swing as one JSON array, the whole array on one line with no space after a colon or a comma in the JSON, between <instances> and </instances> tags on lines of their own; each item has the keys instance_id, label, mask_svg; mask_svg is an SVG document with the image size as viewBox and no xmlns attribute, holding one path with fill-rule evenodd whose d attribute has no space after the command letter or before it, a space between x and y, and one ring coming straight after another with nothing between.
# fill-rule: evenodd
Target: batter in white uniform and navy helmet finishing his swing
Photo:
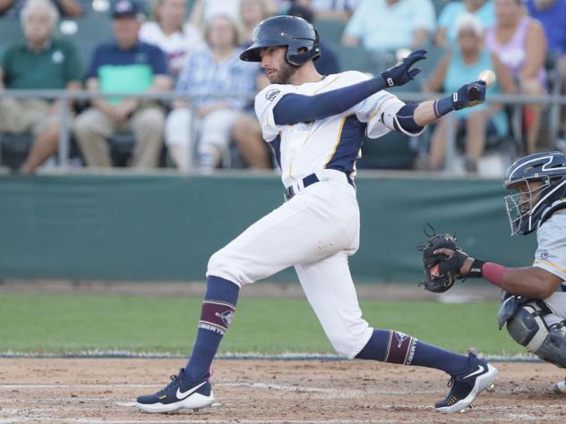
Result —
<instances>
[{"instance_id":1,"label":"batter in white uniform and navy helmet finishing his swing","mask_svg":"<svg viewBox=\"0 0 566 424\"><path fill-rule=\"evenodd\" d=\"M141 396L142 411L201 408L213 402L210 364L236 311L240 288L295 267L304 293L330 343L348 359L380 360L442 369L450 393L438 411L466 408L490 386L497 369L470 352L447 352L399 331L373 329L362 318L348 257L359 242L356 158L364 133L417 135L444 114L485 100L485 83L472 82L436 101L405 104L385 89L416 77L419 50L375 78L362 72L321 75L313 61L320 39L301 18L275 16L254 31L244 61L261 62L271 84L255 98L263 138L281 168L285 199L279 208L212 255L201 320L188 364L164 389Z\"/></svg>"}]
</instances>

